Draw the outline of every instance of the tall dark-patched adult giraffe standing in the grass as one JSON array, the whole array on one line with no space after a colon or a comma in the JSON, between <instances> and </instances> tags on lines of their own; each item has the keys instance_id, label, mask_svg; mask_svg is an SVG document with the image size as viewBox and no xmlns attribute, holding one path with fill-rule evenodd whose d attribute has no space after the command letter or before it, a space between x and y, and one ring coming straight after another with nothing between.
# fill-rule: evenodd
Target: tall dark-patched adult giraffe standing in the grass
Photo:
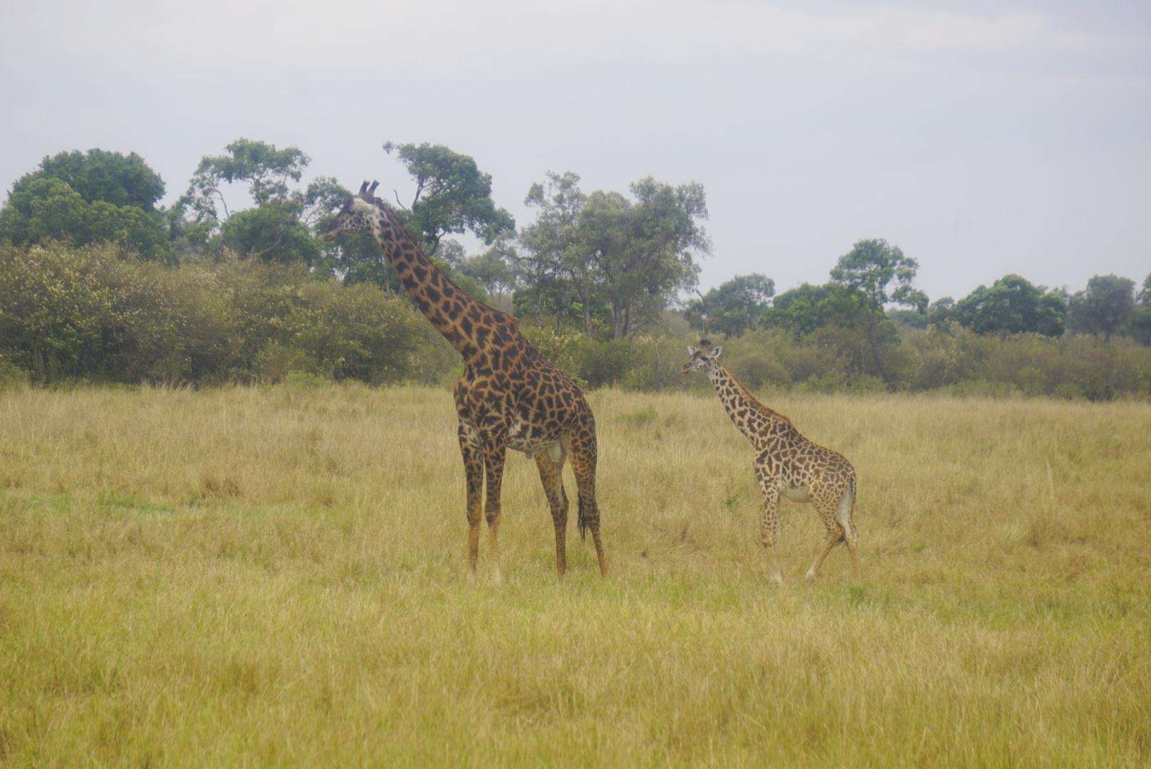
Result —
<instances>
[{"instance_id":1,"label":"tall dark-patched adult giraffe standing in the grass","mask_svg":"<svg viewBox=\"0 0 1151 769\"><path fill-rule=\"evenodd\" d=\"M416 306L464 358L456 384L459 450L467 473L467 566L475 576L480 497L491 547L491 576L500 581L500 486L508 449L535 457L556 530L556 573L566 566L567 494L564 462L571 457L579 496L579 530L592 530L600 574L608 568L595 504L595 417L571 376L546 360L519 333L516 319L464 294L424 254L367 182L348 199L322 239L369 233L383 249Z\"/></svg>"}]
</instances>

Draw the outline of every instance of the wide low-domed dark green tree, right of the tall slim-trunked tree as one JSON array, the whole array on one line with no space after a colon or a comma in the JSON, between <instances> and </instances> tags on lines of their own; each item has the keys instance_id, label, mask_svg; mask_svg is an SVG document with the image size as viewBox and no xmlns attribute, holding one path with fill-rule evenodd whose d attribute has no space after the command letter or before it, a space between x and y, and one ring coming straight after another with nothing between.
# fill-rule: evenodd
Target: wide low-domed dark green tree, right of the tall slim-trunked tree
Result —
<instances>
[{"instance_id":1,"label":"wide low-domed dark green tree, right of the tall slim-trunked tree","mask_svg":"<svg viewBox=\"0 0 1151 769\"><path fill-rule=\"evenodd\" d=\"M932 322L954 320L976 334L1044 336L1062 335L1066 315L1067 303L1059 294L1014 274L1000 277L991 288L980 285L951 306L940 299L930 313Z\"/></svg>"}]
</instances>

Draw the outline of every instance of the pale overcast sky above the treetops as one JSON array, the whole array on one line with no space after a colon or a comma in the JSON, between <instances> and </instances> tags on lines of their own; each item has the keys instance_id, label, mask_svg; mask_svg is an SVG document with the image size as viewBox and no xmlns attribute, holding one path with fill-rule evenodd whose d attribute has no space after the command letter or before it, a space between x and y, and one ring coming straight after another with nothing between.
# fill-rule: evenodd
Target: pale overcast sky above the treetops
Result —
<instances>
[{"instance_id":1,"label":"pale overcast sky above the treetops","mask_svg":"<svg viewBox=\"0 0 1151 769\"><path fill-rule=\"evenodd\" d=\"M1151 2L0 0L0 183L135 151L170 201L238 137L410 195L386 139L528 186L702 182L702 285L823 282L852 243L932 299L1151 273Z\"/></svg>"}]
</instances>

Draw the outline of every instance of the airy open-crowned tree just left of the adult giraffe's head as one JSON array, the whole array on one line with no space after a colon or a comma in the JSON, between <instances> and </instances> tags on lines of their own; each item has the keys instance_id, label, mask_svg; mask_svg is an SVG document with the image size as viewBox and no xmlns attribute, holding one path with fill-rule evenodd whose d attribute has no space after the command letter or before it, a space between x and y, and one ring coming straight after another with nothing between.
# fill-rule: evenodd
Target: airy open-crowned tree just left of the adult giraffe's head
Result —
<instances>
[{"instance_id":1,"label":"airy open-crowned tree just left of the adult giraffe's head","mask_svg":"<svg viewBox=\"0 0 1151 769\"><path fill-rule=\"evenodd\" d=\"M321 254L315 227L351 192L326 176L315 177L303 190L294 189L291 183L299 182L310 162L298 147L277 150L274 144L239 138L224 150L227 154L200 159L180 199L178 205L192 213L189 241L265 261L315 265ZM224 185L231 184L244 184L256 205L229 208Z\"/></svg>"}]
</instances>

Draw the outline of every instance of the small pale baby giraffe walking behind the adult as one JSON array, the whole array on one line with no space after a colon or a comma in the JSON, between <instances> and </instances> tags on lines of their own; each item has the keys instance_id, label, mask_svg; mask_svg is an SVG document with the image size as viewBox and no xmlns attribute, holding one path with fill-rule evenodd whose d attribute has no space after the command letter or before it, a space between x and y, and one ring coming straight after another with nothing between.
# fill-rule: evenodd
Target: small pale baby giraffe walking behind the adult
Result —
<instances>
[{"instance_id":1,"label":"small pale baby giraffe walking behind the adult","mask_svg":"<svg viewBox=\"0 0 1151 769\"><path fill-rule=\"evenodd\" d=\"M831 548L847 543L852 569L859 579L855 558L855 470L839 452L817 446L799 434L787 417L763 405L719 364L722 347L712 348L708 340L700 347L687 345L692 356L684 373L706 371L719 394L719 402L747 440L755 447L755 478L763 493L763 523L760 527L763 547L768 550L771 579L783 584L776 559L779 534L779 495L793 502L810 502L828 528L828 541L807 570L807 581L815 579Z\"/></svg>"}]
</instances>

